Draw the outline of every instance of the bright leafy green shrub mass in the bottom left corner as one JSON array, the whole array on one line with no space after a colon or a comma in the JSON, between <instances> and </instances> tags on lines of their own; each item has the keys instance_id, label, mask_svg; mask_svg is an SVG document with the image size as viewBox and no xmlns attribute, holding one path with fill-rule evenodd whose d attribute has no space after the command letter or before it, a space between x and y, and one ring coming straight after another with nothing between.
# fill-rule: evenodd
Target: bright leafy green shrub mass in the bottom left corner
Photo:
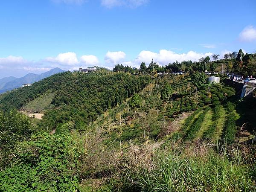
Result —
<instances>
[{"instance_id":1,"label":"bright leafy green shrub mass in the bottom left corner","mask_svg":"<svg viewBox=\"0 0 256 192\"><path fill-rule=\"evenodd\" d=\"M0 172L0 191L75 191L83 155L76 134L37 134L20 143L12 167Z\"/></svg>"}]
</instances>

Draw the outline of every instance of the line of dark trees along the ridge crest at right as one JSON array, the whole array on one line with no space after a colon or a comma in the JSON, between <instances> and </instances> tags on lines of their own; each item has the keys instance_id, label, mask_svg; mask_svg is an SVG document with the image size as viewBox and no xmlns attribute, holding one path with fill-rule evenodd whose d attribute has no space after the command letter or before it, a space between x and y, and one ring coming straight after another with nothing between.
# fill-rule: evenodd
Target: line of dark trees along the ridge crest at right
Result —
<instances>
[{"instance_id":1,"label":"line of dark trees along the ridge crest at right","mask_svg":"<svg viewBox=\"0 0 256 192\"><path fill-rule=\"evenodd\" d=\"M124 66L122 64L116 64L113 72L126 72L131 74L150 74L150 73L193 73L193 72L223 72L223 73L236 73L246 76L256 76L256 54L246 53L244 54L242 49L239 52L233 51L224 54L223 59L219 59L220 55L213 54L212 60L210 57L203 57L199 61L181 61L159 66L157 62L151 61L148 66L142 62L140 68L134 68L130 66Z\"/></svg>"}]
</instances>

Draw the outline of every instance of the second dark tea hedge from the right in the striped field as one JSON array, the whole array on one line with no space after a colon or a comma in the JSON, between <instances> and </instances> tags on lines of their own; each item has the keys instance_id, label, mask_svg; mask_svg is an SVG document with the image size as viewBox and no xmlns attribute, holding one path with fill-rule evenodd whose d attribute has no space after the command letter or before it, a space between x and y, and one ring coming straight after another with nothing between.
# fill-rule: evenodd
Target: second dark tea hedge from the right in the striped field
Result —
<instances>
[{"instance_id":1,"label":"second dark tea hedge from the right in the striped field","mask_svg":"<svg viewBox=\"0 0 256 192\"><path fill-rule=\"evenodd\" d=\"M207 131L204 132L203 138L204 139L210 139L212 138L212 135L214 134L219 118L221 116L220 114L221 111L221 105L216 105L215 108L213 108L213 114L212 114L212 125L208 128Z\"/></svg>"}]
</instances>

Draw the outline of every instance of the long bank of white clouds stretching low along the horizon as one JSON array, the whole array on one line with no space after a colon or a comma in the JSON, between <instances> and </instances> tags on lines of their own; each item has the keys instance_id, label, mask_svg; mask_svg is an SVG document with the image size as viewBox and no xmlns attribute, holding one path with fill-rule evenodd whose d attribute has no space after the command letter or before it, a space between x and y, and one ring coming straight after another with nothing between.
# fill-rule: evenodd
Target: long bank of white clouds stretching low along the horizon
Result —
<instances>
[{"instance_id":1,"label":"long bank of white clouds stretching low along the horizon","mask_svg":"<svg viewBox=\"0 0 256 192\"><path fill-rule=\"evenodd\" d=\"M230 52L225 50L226 52ZM159 52L148 50L141 51L134 60L125 60L126 54L122 51L108 51L105 55L105 62L100 63L95 55L82 55L79 59L76 53L60 53L56 57L48 57L39 61L27 61L23 57L8 56L0 58L0 78L4 76L23 76L27 73L42 73L54 67L60 67L63 70L78 70L79 67L99 66L113 69L119 63L131 67L140 67L141 62L147 65L153 59L159 65L166 65L177 61L198 61L202 57L211 56L212 52L198 53L189 51L186 53L176 53L171 50L161 49ZM222 53L224 55L224 52ZM3 71L3 73L2 73Z\"/></svg>"}]
</instances>

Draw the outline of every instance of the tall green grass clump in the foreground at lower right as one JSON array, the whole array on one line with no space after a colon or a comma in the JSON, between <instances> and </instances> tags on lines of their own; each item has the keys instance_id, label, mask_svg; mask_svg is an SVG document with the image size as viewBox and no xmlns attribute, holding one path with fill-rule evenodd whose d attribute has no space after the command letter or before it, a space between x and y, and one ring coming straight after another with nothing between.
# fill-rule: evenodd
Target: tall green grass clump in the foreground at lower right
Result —
<instances>
[{"instance_id":1,"label":"tall green grass clump in the foreground at lower right","mask_svg":"<svg viewBox=\"0 0 256 192\"><path fill-rule=\"evenodd\" d=\"M140 162L143 158L131 158L133 155L129 154L119 175L119 185L113 188L140 192L255 191L250 177L253 173L248 173L251 166L243 164L238 149L235 151L237 155L230 160L227 152L220 155L212 148L190 156L179 150L158 150L153 157L144 157L151 159L148 166Z\"/></svg>"}]
</instances>

